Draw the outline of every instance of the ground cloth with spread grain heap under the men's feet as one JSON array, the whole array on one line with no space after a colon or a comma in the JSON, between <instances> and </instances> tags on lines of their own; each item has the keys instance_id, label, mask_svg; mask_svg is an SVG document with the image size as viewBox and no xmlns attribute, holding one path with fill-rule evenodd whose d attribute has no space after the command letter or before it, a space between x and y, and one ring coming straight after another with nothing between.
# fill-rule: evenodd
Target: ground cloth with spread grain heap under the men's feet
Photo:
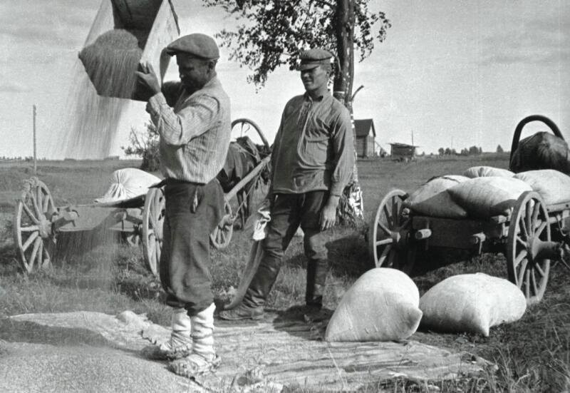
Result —
<instances>
[{"instance_id":1,"label":"ground cloth with spread grain heap under the men's feet","mask_svg":"<svg viewBox=\"0 0 570 393\"><path fill-rule=\"evenodd\" d=\"M0 322L1 392L216 392L355 389L379 379L445 379L474 374L482 364L410 340L326 343L323 324L267 313L252 324L216 321L222 366L196 382L167 371L138 351L170 332L143 317L98 312L30 314ZM256 385L257 384L257 385Z\"/></svg>"}]
</instances>

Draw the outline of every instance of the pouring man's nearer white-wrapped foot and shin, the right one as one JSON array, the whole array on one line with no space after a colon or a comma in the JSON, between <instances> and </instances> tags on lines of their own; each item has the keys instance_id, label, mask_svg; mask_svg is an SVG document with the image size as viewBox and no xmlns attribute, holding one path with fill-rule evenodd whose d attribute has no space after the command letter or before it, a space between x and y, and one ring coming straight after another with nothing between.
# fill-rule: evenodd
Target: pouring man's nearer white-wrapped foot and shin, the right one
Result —
<instances>
[{"instance_id":1,"label":"pouring man's nearer white-wrapped foot and shin, the right one","mask_svg":"<svg viewBox=\"0 0 570 393\"><path fill-rule=\"evenodd\" d=\"M214 303L190 317L192 320L192 353L168 364L168 369L182 377L192 378L213 372L220 359L214 349Z\"/></svg>"}]
</instances>

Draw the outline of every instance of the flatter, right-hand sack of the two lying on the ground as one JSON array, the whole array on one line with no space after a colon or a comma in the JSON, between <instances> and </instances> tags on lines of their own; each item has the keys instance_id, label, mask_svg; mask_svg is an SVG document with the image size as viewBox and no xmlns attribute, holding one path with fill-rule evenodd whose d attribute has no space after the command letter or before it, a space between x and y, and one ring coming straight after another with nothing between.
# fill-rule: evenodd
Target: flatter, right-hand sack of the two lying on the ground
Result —
<instances>
[{"instance_id":1,"label":"flatter, right-hand sack of the two lying on the ground","mask_svg":"<svg viewBox=\"0 0 570 393\"><path fill-rule=\"evenodd\" d=\"M504 278L484 273L455 275L420 299L423 328L489 336L489 328L519 320L527 310L521 290Z\"/></svg>"}]
</instances>

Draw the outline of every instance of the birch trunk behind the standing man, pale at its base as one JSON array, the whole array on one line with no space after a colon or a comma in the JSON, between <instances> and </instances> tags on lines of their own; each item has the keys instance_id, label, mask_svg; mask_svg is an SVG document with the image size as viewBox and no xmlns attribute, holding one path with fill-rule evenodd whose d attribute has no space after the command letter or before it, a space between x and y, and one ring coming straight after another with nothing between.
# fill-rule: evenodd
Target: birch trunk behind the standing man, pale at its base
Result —
<instances>
[{"instance_id":1,"label":"birch trunk behind the standing man, pale at its base","mask_svg":"<svg viewBox=\"0 0 570 393\"><path fill-rule=\"evenodd\" d=\"M356 130L352 107L352 87L354 79L354 0L336 0L336 49L338 69L333 83L333 96L343 103L351 113L354 141L354 166L351 182L344 190L339 206L341 220L356 222L363 218L363 199L358 185L358 154L356 153ZM353 203L349 203L349 201Z\"/></svg>"}]
</instances>

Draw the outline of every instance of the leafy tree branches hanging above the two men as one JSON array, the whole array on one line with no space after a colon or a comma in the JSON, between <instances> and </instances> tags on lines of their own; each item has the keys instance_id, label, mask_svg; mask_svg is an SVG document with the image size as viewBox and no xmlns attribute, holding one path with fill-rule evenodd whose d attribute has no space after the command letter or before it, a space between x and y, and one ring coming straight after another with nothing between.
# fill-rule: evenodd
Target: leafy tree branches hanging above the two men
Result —
<instances>
[{"instance_id":1,"label":"leafy tree branches hanging above the two men","mask_svg":"<svg viewBox=\"0 0 570 393\"><path fill-rule=\"evenodd\" d=\"M321 47L338 54L337 4L341 0L203 0L235 16L237 30L222 30L217 38L229 49L229 58L253 70L248 82L264 86L279 66L294 69L301 51ZM390 21L383 12L372 13L368 0L351 0L354 9L353 44L362 61L384 41Z\"/></svg>"}]
</instances>

